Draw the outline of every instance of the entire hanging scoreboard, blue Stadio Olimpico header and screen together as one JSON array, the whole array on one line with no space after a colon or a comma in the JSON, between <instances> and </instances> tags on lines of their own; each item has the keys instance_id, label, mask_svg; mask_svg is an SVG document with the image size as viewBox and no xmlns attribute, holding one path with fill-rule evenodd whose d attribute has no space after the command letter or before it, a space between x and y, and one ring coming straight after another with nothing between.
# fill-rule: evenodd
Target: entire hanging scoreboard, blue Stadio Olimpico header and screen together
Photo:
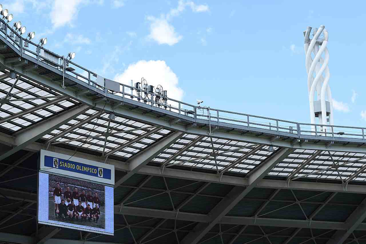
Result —
<instances>
[{"instance_id":1,"label":"entire hanging scoreboard, blue Stadio Olimpico header and screen together","mask_svg":"<svg viewBox=\"0 0 366 244\"><path fill-rule=\"evenodd\" d=\"M41 150L38 223L114 234L114 166Z\"/></svg>"}]
</instances>

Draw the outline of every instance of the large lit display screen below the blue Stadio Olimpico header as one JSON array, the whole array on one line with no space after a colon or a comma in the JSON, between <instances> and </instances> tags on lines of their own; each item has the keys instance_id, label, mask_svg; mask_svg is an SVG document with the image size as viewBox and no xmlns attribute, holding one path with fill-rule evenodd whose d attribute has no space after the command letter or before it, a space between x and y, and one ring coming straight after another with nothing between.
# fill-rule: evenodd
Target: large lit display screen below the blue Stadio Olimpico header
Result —
<instances>
[{"instance_id":1,"label":"large lit display screen below the blue Stadio Olimpico header","mask_svg":"<svg viewBox=\"0 0 366 244\"><path fill-rule=\"evenodd\" d=\"M113 235L113 187L39 172L38 222Z\"/></svg>"}]
</instances>

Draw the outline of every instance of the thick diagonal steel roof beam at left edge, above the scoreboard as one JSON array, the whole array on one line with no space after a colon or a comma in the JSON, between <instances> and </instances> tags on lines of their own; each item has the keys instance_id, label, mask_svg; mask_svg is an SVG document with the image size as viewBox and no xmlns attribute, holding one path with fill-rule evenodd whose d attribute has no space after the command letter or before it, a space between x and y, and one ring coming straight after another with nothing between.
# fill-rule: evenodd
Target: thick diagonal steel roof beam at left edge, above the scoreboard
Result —
<instances>
[{"instance_id":1,"label":"thick diagonal steel roof beam at left edge, above the scoreboard","mask_svg":"<svg viewBox=\"0 0 366 244\"><path fill-rule=\"evenodd\" d=\"M61 98L61 100L64 100L64 98ZM62 112L58 116L54 116L46 121L42 121L35 124L34 126L31 126L30 128L20 131L20 133L17 134L15 137L15 147L7 151L6 153L1 154L0 161L16 153L19 150L24 149L28 144L40 139L45 134L53 131L53 129L59 128L61 125L67 123L71 119L83 113L86 109L89 109L89 106L80 105L76 108Z\"/></svg>"}]
</instances>

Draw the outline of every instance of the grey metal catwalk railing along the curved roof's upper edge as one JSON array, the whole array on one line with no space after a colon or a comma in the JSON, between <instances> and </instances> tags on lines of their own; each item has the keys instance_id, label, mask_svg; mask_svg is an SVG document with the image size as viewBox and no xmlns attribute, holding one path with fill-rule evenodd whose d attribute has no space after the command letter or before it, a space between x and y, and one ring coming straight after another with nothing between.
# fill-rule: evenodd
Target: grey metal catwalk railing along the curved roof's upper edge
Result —
<instances>
[{"instance_id":1,"label":"grey metal catwalk railing along the curved roof's upper edge","mask_svg":"<svg viewBox=\"0 0 366 244\"><path fill-rule=\"evenodd\" d=\"M128 86L122 83L120 84L119 91L108 90L104 86L97 84L97 74L95 72L87 70L73 61L66 60L63 56L53 53L52 51L45 49L43 46L23 38L18 34L18 32L5 23L4 20L0 19L0 22L0 38L4 41L5 45L10 45L10 48L19 53L21 58L23 57L24 59L27 59L28 56L33 57L38 62L49 65L50 68L56 68L57 70L64 72L64 75L68 75L68 77L74 77L84 83L86 87L96 88L101 95L110 93L121 97L122 101L126 101L126 99L134 100L141 102L141 104L147 104L151 107L169 110L170 112L176 113L176 115L181 119L184 119L184 117L187 119L190 118L190 121L193 121L192 123L205 122L209 124L209 128L211 128L212 131L221 126L230 127L230 125L242 125L243 127L240 128L245 129L246 127L248 131L251 130L250 128L264 129L266 133L269 134L280 135L280 132L284 132L288 136L295 138L304 138L304 136L305 138L306 136L314 138L315 136L315 138L318 139L344 141L347 141L346 138L352 138L356 139L357 142L366 143L366 128L362 127L297 123L293 121L213 109L206 106L195 106L168 97L164 97L164 101L163 97L160 95L158 96L159 99L156 100L157 95L155 93L146 92L143 89L137 89L133 86ZM6 46L3 48L6 48ZM315 130L312 126L314 126L313 128L315 128Z\"/></svg>"}]
</instances>

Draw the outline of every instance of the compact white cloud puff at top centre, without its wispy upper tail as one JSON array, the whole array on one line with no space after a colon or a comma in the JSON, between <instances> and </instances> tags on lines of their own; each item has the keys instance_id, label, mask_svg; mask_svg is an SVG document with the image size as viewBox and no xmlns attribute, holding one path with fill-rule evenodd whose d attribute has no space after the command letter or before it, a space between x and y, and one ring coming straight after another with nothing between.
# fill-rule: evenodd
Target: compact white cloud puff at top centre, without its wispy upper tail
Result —
<instances>
[{"instance_id":1,"label":"compact white cloud puff at top centre, without its wispy upper tail","mask_svg":"<svg viewBox=\"0 0 366 244\"><path fill-rule=\"evenodd\" d=\"M158 44L172 46L182 39L182 36L175 32L174 27L166 19L157 19L152 16L147 19L151 21L148 37L155 40Z\"/></svg>"}]
</instances>

